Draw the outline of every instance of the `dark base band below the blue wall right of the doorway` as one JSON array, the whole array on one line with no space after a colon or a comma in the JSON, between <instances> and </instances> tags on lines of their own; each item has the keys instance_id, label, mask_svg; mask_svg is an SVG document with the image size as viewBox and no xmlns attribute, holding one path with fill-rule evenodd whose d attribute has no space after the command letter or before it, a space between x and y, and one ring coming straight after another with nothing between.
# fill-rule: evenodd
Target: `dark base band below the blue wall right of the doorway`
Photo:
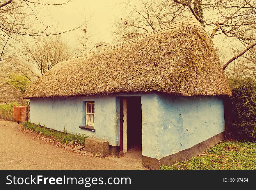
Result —
<instances>
[{"instance_id":1,"label":"dark base band below the blue wall right of the doorway","mask_svg":"<svg viewBox=\"0 0 256 190\"><path fill-rule=\"evenodd\" d=\"M209 149L210 147L218 144L224 138L225 138L225 132L222 132L222 133L215 135L203 142L200 142L197 145L194 145L191 148L188 148L188 149L179 151L175 154L163 157L160 160L157 160L157 158L150 158L150 157L142 155L142 163L145 167L147 167L149 169L159 169L161 164L168 165L168 164L174 164L174 163L176 163L176 161L182 162L184 159L191 158L195 155L200 154L201 152L204 152L205 150Z\"/></svg>"}]
</instances>

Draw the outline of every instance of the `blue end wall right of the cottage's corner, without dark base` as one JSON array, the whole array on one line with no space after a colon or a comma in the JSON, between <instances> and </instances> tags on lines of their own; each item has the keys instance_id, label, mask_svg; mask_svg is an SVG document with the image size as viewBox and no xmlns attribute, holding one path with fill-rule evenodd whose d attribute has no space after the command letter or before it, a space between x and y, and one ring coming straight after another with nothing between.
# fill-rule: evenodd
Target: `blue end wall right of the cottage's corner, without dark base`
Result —
<instances>
[{"instance_id":1,"label":"blue end wall right of the cottage's corner, without dark base","mask_svg":"<svg viewBox=\"0 0 256 190\"><path fill-rule=\"evenodd\" d=\"M158 154L144 151L144 156L162 158L188 149L224 131L223 100L216 96L175 97L157 94Z\"/></svg>"}]
</instances>

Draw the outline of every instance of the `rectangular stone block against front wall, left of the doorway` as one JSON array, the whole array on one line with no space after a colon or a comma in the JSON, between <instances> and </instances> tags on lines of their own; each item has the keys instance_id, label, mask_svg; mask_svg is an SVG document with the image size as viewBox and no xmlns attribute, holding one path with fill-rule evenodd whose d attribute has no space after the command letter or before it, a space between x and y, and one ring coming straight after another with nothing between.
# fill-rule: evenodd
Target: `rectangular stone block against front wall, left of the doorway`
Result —
<instances>
[{"instance_id":1,"label":"rectangular stone block against front wall, left of the doorway","mask_svg":"<svg viewBox=\"0 0 256 190\"><path fill-rule=\"evenodd\" d=\"M96 152L102 156L109 154L109 141L100 140L93 137L85 138L84 149L89 152Z\"/></svg>"}]
</instances>

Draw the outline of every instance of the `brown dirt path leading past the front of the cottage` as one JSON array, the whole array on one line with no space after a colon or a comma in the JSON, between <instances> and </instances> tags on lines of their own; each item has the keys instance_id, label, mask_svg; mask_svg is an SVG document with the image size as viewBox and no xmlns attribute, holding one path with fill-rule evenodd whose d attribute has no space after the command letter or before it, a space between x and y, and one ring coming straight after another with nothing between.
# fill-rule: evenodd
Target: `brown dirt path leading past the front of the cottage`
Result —
<instances>
[{"instance_id":1,"label":"brown dirt path leading past the front of the cottage","mask_svg":"<svg viewBox=\"0 0 256 190\"><path fill-rule=\"evenodd\" d=\"M129 158L84 156L56 147L21 124L0 120L0 169L145 169Z\"/></svg>"}]
</instances>

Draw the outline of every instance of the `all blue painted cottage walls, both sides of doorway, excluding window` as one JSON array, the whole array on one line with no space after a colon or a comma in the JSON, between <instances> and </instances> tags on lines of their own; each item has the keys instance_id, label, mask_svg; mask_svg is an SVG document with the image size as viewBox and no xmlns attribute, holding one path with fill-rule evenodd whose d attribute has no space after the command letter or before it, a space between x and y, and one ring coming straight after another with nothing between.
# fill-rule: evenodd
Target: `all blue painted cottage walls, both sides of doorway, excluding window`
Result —
<instances>
[{"instance_id":1,"label":"all blue painted cottage walls, both sides of doorway, excluding window","mask_svg":"<svg viewBox=\"0 0 256 190\"><path fill-rule=\"evenodd\" d=\"M175 154L224 131L223 100L166 94L36 98L30 100L32 123L69 133L85 133L110 145L120 145L120 99L141 96L142 154L151 158ZM95 132L80 129L83 101L95 102ZM181 145L182 144L182 145Z\"/></svg>"}]
</instances>

